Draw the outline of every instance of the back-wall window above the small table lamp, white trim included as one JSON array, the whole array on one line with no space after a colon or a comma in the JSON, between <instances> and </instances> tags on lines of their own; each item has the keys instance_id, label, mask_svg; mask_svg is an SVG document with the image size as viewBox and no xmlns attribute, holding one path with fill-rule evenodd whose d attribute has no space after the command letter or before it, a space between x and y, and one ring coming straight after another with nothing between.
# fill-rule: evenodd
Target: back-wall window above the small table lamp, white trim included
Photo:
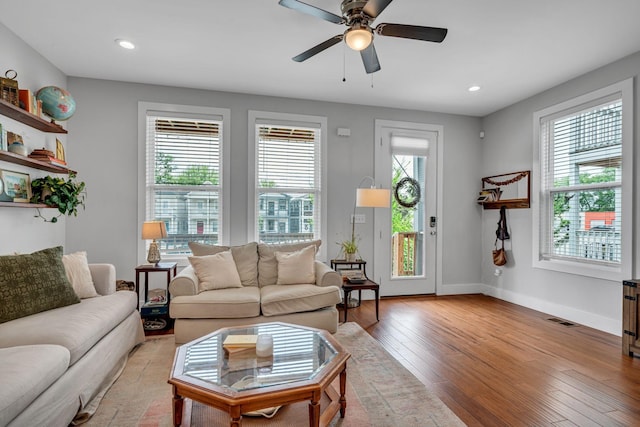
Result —
<instances>
[{"instance_id":1,"label":"back-wall window above the small table lamp, white trim included","mask_svg":"<svg viewBox=\"0 0 640 427\"><path fill-rule=\"evenodd\" d=\"M228 114L213 108L139 104L145 153L145 201L139 222L166 222L168 237L158 242L163 259L186 258L189 241L224 241Z\"/></svg>"}]
</instances>

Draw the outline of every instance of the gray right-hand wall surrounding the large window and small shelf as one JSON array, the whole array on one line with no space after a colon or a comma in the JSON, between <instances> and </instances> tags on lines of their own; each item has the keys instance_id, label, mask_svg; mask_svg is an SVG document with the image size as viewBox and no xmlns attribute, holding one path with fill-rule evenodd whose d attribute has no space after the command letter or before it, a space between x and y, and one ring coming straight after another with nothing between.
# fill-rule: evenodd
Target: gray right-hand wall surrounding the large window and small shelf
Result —
<instances>
[{"instance_id":1,"label":"gray right-hand wall surrounding the large window and small shelf","mask_svg":"<svg viewBox=\"0 0 640 427\"><path fill-rule=\"evenodd\" d=\"M532 168L533 113L535 111L630 77L637 78L639 73L640 53L636 53L485 117L483 128L486 136L482 142L483 176ZM639 99L640 92L636 82L634 95L636 133L633 160L635 165L640 164L637 134L640 125ZM533 177L533 179L536 178ZM639 188L640 182L636 171L636 194ZM634 197L636 219L632 233L634 253L638 254L637 213L640 211L638 197L635 194ZM508 219L512 228L513 243L513 251L510 254L513 257L513 263L504 268L503 275L499 277L494 276L494 266L490 257L498 213L497 211L483 213L482 281L487 284L486 292L619 335L622 326L622 284L620 282L532 267L532 210L536 206L534 204L532 209L509 211ZM637 255L633 263L633 271L637 273L640 266Z\"/></svg>"}]
</instances>

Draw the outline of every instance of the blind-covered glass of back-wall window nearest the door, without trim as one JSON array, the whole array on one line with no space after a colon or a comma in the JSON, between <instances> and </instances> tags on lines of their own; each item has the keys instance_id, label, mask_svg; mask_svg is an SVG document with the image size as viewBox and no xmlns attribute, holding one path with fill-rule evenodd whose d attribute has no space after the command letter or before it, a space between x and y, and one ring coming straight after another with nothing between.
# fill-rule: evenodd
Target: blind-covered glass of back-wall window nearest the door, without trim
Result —
<instances>
[{"instance_id":1,"label":"blind-covered glass of back-wall window nearest the door, without trim","mask_svg":"<svg viewBox=\"0 0 640 427\"><path fill-rule=\"evenodd\" d=\"M319 239L320 129L258 121L255 132L255 227L259 241Z\"/></svg>"}]
</instances>

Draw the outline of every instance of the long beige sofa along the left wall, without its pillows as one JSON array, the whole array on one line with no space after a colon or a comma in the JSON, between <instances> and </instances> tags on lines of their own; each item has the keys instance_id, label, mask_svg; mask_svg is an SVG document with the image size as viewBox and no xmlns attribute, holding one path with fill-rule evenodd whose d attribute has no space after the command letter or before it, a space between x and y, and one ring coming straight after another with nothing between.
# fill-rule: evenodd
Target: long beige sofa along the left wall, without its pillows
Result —
<instances>
[{"instance_id":1,"label":"long beige sofa along the left wall, without its pillows","mask_svg":"<svg viewBox=\"0 0 640 427\"><path fill-rule=\"evenodd\" d=\"M86 419L144 341L135 292L116 292L113 265L89 269L99 296L0 323L0 426Z\"/></svg>"}]
</instances>

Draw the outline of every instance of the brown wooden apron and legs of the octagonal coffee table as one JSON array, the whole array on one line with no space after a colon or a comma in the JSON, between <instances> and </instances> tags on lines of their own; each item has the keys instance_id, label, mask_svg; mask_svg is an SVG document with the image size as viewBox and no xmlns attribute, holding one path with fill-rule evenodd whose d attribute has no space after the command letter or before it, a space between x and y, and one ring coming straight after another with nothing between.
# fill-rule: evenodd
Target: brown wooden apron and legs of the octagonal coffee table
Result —
<instances>
[{"instance_id":1,"label":"brown wooden apron and legs of the octagonal coffee table","mask_svg":"<svg viewBox=\"0 0 640 427\"><path fill-rule=\"evenodd\" d=\"M205 405L225 411L229 414L230 426L242 426L242 413L251 412L258 409L273 406L286 405L295 402L309 400L309 426L319 427L329 425L333 417L340 410L340 418L344 418L347 409L346 385L347 385L347 365L346 359L337 366L334 372L325 377L326 381L318 384L304 384L291 386L272 386L265 388L264 393L252 393L246 398L235 397L229 399L228 396L218 395L214 392L204 390L192 384L181 384L172 382L173 385L173 425L182 424L182 414L184 410L184 398L189 398ZM340 375L339 392L331 385L336 376ZM267 389L273 389L267 392ZM320 400L322 394L326 394L330 402L327 408L321 413Z\"/></svg>"}]
</instances>

